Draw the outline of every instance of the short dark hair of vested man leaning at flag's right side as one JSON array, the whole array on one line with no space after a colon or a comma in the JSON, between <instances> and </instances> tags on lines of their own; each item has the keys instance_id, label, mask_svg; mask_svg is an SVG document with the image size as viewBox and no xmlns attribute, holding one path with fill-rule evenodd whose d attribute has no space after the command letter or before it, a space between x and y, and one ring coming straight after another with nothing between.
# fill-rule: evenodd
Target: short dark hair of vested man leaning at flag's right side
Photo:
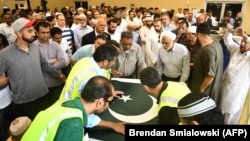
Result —
<instances>
[{"instance_id":1,"label":"short dark hair of vested man leaning at flag's right side","mask_svg":"<svg viewBox=\"0 0 250 141\"><path fill-rule=\"evenodd\" d=\"M139 79L142 85L146 85L150 88L156 88L156 86L162 81L159 73L153 67L143 69L139 74Z\"/></svg>"}]
</instances>

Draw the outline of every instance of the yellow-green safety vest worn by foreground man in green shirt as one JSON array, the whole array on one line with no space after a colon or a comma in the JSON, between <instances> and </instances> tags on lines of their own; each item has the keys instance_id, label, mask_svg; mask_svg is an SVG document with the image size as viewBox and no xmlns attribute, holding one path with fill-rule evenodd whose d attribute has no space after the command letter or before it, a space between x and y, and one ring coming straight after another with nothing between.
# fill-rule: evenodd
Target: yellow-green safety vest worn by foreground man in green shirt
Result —
<instances>
[{"instance_id":1,"label":"yellow-green safety vest worn by foreground man in green shirt","mask_svg":"<svg viewBox=\"0 0 250 141\"><path fill-rule=\"evenodd\" d=\"M87 119L83 119L85 113L80 109L64 107L67 100L54 103L48 109L37 114L21 141L53 141L62 121L70 118L81 119L83 125ZM84 121L83 121L84 120Z\"/></svg>"}]
</instances>

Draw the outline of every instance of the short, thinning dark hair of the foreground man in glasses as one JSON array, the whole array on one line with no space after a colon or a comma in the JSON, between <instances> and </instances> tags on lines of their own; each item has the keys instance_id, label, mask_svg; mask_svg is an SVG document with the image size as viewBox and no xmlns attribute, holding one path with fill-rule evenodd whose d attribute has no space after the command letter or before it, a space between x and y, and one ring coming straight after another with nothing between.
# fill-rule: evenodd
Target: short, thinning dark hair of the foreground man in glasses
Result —
<instances>
[{"instance_id":1,"label":"short, thinning dark hair of the foreground man in glasses","mask_svg":"<svg viewBox=\"0 0 250 141\"><path fill-rule=\"evenodd\" d=\"M113 84L104 76L90 78L81 92L81 98L87 102L94 102L95 99L108 99L112 94Z\"/></svg>"}]
</instances>

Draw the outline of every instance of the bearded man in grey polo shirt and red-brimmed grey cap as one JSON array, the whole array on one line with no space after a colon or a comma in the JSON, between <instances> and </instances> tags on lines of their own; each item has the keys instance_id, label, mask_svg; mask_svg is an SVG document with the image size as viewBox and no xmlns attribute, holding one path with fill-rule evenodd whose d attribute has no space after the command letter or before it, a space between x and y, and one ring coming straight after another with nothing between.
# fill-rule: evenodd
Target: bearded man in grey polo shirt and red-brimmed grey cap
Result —
<instances>
[{"instance_id":1,"label":"bearded man in grey polo shirt and red-brimmed grey cap","mask_svg":"<svg viewBox=\"0 0 250 141\"><path fill-rule=\"evenodd\" d=\"M32 44L35 40L35 21L26 18L17 19L12 27L17 35L14 44L0 52L0 74L7 74L13 92L14 118L28 116L34 119L36 114L49 107L48 88L43 73L65 80L65 76L52 69L42 57L39 47Z\"/></svg>"}]
</instances>

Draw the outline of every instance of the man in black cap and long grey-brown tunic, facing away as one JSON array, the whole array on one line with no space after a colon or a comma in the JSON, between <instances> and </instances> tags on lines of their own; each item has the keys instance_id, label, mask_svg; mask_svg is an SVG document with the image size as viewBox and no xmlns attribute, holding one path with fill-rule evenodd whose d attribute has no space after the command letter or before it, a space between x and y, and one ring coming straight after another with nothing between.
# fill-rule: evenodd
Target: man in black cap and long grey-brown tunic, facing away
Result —
<instances>
[{"instance_id":1,"label":"man in black cap and long grey-brown tunic, facing away","mask_svg":"<svg viewBox=\"0 0 250 141\"><path fill-rule=\"evenodd\" d=\"M223 51L221 44L210 36L208 24L199 24L196 29L201 48L195 56L189 88L195 93L205 93L220 105L223 75Z\"/></svg>"}]
</instances>

